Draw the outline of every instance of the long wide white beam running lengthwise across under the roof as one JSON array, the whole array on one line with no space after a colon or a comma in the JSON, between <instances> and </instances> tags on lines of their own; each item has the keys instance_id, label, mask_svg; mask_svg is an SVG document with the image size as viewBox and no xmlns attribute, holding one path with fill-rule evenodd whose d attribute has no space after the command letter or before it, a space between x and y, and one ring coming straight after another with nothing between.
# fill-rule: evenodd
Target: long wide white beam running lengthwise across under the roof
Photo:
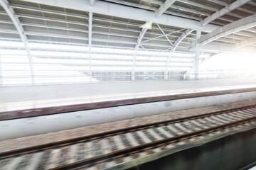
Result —
<instances>
[{"instance_id":1,"label":"long wide white beam running lengthwise across under the roof","mask_svg":"<svg viewBox=\"0 0 256 170\"><path fill-rule=\"evenodd\" d=\"M162 14L156 17L154 11L146 11L141 8L133 8L130 6L123 6L120 4L114 4L107 1L96 1L94 6L90 6L88 1L83 0L23 0L29 1L36 4L45 4L49 6L58 6L61 8L72 8L78 11L91 11L93 13L100 13L107 16L117 16L120 18L129 18L139 21L152 21L153 23L159 23L166 26L176 26L180 28L191 28L191 29L201 29L202 31L210 32L219 28L212 24L207 26L200 26L199 21L194 21L187 18L181 18L178 16L170 16L167 14Z\"/></svg>"}]
</instances>

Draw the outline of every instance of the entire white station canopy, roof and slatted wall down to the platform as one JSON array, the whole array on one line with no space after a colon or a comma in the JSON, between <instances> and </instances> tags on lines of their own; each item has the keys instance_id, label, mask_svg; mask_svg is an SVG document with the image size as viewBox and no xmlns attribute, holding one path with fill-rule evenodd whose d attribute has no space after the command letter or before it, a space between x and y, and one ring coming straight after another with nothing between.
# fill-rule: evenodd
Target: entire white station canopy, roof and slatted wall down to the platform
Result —
<instances>
[{"instance_id":1,"label":"entire white station canopy, roof and slatted wall down to the platform","mask_svg":"<svg viewBox=\"0 0 256 170\"><path fill-rule=\"evenodd\" d=\"M4 84L179 79L256 51L255 0L0 1Z\"/></svg>"}]
</instances>

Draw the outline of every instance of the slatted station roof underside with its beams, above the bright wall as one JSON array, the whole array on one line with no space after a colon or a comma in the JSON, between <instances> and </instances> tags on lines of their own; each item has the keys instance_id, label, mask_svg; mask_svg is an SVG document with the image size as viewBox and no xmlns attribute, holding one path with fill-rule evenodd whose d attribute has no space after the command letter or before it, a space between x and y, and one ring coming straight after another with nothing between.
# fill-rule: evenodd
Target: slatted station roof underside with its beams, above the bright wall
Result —
<instances>
[{"instance_id":1,"label":"slatted station roof underside with its beams, above the bright wall","mask_svg":"<svg viewBox=\"0 0 256 170\"><path fill-rule=\"evenodd\" d=\"M10 0L6 3L28 41L131 48L139 43L139 48L169 50L189 29L191 31L187 31L186 37L176 47L177 51L187 52L196 42L196 30L201 30L204 36L253 16L249 26L238 29L235 26L233 31L215 37L207 44L212 45L208 45L209 50L214 50L215 45L225 45L227 49L245 45L255 47L256 1ZM1 38L20 38L3 7L0 8L0 22ZM140 37L146 22L152 22L151 29Z\"/></svg>"}]
</instances>

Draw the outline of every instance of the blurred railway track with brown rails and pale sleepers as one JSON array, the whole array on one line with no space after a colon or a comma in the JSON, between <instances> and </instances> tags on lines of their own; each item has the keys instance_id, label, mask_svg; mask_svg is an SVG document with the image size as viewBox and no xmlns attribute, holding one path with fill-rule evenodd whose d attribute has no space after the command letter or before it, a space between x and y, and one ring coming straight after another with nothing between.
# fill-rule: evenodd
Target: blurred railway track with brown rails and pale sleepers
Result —
<instances>
[{"instance_id":1,"label":"blurred railway track with brown rails and pale sleepers","mask_svg":"<svg viewBox=\"0 0 256 170\"><path fill-rule=\"evenodd\" d=\"M2 152L0 169L105 169L255 121L256 105L165 120Z\"/></svg>"}]
</instances>

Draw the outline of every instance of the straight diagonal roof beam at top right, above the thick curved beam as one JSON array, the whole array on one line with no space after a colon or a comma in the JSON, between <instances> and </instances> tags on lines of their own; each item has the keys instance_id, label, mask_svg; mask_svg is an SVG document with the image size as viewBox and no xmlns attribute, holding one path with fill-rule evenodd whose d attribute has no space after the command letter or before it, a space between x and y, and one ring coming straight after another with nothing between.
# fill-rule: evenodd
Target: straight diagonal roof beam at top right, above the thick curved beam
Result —
<instances>
[{"instance_id":1,"label":"straight diagonal roof beam at top right, above the thick curved beam","mask_svg":"<svg viewBox=\"0 0 256 170\"><path fill-rule=\"evenodd\" d=\"M210 23L211 21L214 21L215 19L219 18L220 16L224 16L226 13L229 13L230 11L233 11L236 8L239 8L240 6L246 4L250 0L237 0L233 2L232 4L226 6L225 8L220 9L220 11L216 11L213 13L213 15L208 16L207 18L203 19L202 26L205 26L207 23Z\"/></svg>"}]
</instances>

